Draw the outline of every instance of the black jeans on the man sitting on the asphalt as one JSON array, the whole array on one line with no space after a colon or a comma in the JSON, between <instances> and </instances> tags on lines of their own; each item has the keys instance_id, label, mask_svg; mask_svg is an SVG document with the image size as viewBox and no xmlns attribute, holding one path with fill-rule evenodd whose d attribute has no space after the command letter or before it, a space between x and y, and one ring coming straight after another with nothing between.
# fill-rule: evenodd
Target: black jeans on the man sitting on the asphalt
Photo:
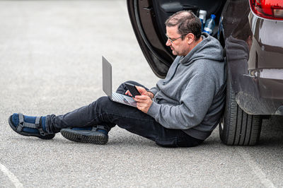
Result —
<instances>
[{"instance_id":1,"label":"black jeans on the man sitting on the asphalt","mask_svg":"<svg viewBox=\"0 0 283 188\"><path fill-rule=\"evenodd\" d=\"M127 82L141 86L134 81ZM125 83L122 83L117 93L125 94L126 90ZM137 108L112 102L108 97L98 98L90 105L67 114L47 116L47 131L53 133L64 128L90 127L98 124L103 125L108 131L117 124L122 129L155 141L159 146L192 147L202 143L202 140L195 139L182 130L167 129Z\"/></svg>"}]
</instances>

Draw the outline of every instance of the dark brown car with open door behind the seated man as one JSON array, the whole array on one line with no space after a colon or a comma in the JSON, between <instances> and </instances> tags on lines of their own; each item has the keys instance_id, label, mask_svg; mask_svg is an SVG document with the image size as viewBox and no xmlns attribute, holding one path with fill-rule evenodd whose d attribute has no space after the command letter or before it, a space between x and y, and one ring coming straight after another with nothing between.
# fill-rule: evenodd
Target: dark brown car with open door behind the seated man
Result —
<instances>
[{"instance_id":1,"label":"dark brown car with open door behind the seated man","mask_svg":"<svg viewBox=\"0 0 283 188\"><path fill-rule=\"evenodd\" d=\"M283 115L282 0L127 0L129 17L154 74L164 78L175 58L166 47L166 18L191 10L216 15L212 35L224 47L226 107L219 124L227 145L255 145L262 118ZM201 92L201 91L200 91Z\"/></svg>"}]
</instances>

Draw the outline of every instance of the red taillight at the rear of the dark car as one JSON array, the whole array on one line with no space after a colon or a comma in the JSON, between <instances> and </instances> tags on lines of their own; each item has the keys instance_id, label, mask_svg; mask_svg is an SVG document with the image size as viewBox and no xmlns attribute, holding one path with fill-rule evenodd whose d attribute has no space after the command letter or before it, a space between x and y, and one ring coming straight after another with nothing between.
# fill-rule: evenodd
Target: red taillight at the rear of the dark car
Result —
<instances>
[{"instance_id":1,"label":"red taillight at the rear of the dark car","mask_svg":"<svg viewBox=\"0 0 283 188\"><path fill-rule=\"evenodd\" d=\"M252 11L272 20L283 20L283 0L250 0Z\"/></svg>"}]
</instances>

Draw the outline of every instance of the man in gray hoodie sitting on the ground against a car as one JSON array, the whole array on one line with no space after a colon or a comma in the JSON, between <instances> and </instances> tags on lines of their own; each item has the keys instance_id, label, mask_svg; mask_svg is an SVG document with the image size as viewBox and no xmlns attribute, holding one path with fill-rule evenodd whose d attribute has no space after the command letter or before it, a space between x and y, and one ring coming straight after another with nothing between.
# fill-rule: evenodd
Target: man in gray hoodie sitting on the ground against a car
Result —
<instances>
[{"instance_id":1,"label":"man in gray hoodie sitting on the ground against a car","mask_svg":"<svg viewBox=\"0 0 283 188\"><path fill-rule=\"evenodd\" d=\"M224 106L224 61L219 42L201 33L200 20L180 11L166 20L166 45L177 57L165 79L148 90L139 83L137 108L98 98L90 105L56 116L13 114L11 128L24 136L52 139L61 134L71 140L105 144L117 124L159 146L192 147L207 139L219 123ZM125 83L117 93L130 95Z\"/></svg>"}]
</instances>

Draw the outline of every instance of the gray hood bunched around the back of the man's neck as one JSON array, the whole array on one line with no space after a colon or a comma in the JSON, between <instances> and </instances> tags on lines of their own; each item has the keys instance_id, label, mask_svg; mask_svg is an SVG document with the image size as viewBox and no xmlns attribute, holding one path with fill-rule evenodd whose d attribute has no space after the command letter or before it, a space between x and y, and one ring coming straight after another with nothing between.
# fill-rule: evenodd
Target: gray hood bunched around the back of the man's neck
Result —
<instances>
[{"instance_id":1,"label":"gray hood bunched around the back of the man's neck","mask_svg":"<svg viewBox=\"0 0 283 188\"><path fill-rule=\"evenodd\" d=\"M197 59L209 59L223 61L223 49L216 38L202 33L202 42L197 44L181 61L181 64L189 65Z\"/></svg>"}]
</instances>

